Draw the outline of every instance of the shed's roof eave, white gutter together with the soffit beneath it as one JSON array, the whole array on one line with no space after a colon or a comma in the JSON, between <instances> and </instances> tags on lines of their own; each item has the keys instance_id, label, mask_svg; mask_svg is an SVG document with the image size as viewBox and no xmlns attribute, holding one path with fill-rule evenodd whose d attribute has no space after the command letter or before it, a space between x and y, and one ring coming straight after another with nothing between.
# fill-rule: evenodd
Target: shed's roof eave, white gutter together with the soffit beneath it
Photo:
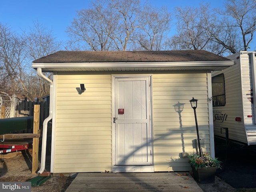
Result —
<instances>
[{"instance_id":1,"label":"shed's roof eave, white gutter together with the soffit beneath it","mask_svg":"<svg viewBox=\"0 0 256 192\"><path fill-rule=\"evenodd\" d=\"M234 65L234 61L200 61L200 62L63 62L63 63L32 63L32 68L42 68L42 71L66 71L76 69L76 71L106 71L102 69L111 68L112 70L120 69L141 69L152 70L222 70ZM66 69L66 70L64 70ZM123 71L123 70L122 70Z\"/></svg>"}]
</instances>

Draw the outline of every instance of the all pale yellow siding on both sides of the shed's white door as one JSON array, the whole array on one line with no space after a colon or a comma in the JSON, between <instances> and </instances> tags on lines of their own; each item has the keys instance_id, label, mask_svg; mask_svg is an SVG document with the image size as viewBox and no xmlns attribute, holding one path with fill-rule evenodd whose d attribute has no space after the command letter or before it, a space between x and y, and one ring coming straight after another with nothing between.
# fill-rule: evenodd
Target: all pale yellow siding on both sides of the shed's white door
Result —
<instances>
[{"instance_id":1,"label":"all pale yellow siding on both sides of the shed's white door","mask_svg":"<svg viewBox=\"0 0 256 192\"><path fill-rule=\"evenodd\" d=\"M86 91L77 88L84 83ZM111 75L59 73L56 80L56 131L54 172L104 172L111 170ZM152 75L153 147L155 171L190 170L182 152L195 152L196 109L203 152L210 152L206 73ZM178 114L174 105L184 103Z\"/></svg>"}]
</instances>

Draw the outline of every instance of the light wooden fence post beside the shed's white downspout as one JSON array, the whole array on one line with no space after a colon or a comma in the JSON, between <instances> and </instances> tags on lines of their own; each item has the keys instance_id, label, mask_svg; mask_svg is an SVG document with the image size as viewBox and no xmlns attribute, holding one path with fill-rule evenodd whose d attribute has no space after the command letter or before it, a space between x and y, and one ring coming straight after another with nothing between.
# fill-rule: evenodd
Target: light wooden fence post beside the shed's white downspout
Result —
<instances>
[{"instance_id":1,"label":"light wooden fence post beside the shed's white downspout","mask_svg":"<svg viewBox=\"0 0 256 192\"><path fill-rule=\"evenodd\" d=\"M34 125L33 133L38 134L40 122L40 105L34 105ZM38 149L39 149L39 138L33 138L33 153L32 153L32 174L36 174L38 169Z\"/></svg>"}]
</instances>

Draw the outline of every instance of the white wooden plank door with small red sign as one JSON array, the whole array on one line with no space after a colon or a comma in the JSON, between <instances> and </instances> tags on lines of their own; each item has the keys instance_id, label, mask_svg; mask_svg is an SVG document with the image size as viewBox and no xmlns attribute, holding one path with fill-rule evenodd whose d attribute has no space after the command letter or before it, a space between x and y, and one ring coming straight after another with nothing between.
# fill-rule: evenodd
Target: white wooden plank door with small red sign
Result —
<instances>
[{"instance_id":1,"label":"white wooden plank door with small red sign","mask_svg":"<svg viewBox=\"0 0 256 192\"><path fill-rule=\"evenodd\" d=\"M115 164L151 165L150 78L115 78Z\"/></svg>"}]
</instances>

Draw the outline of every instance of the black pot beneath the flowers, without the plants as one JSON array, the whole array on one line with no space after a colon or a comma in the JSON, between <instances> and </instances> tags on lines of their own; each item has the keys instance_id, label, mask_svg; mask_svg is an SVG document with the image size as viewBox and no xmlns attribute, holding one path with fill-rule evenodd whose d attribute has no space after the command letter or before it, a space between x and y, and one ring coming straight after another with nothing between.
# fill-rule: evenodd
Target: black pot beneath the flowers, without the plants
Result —
<instances>
[{"instance_id":1,"label":"black pot beneath the flowers, without the plants","mask_svg":"<svg viewBox=\"0 0 256 192\"><path fill-rule=\"evenodd\" d=\"M208 168L195 168L194 165L190 164L192 167L193 177L198 183L214 183L215 182L215 173L216 167Z\"/></svg>"}]
</instances>

